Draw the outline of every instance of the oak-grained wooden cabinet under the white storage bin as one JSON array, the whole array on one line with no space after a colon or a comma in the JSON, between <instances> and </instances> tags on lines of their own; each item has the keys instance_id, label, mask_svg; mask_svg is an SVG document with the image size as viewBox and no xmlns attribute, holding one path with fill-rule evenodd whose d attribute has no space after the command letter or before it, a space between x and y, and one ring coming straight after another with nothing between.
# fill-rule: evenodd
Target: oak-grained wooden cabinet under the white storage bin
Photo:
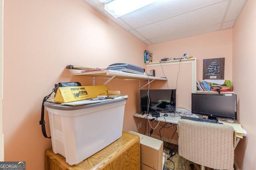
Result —
<instances>
[{"instance_id":1,"label":"oak-grained wooden cabinet under the white storage bin","mask_svg":"<svg viewBox=\"0 0 256 170\"><path fill-rule=\"evenodd\" d=\"M123 132L122 137L77 165L70 166L52 149L45 152L46 170L140 170L140 137Z\"/></svg>"}]
</instances>

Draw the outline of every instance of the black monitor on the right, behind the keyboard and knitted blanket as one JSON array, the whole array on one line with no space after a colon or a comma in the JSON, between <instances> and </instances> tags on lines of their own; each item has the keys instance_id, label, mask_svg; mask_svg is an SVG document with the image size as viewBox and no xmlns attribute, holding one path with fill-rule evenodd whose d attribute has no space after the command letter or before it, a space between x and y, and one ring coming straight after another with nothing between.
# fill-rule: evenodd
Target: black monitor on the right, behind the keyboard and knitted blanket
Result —
<instances>
[{"instance_id":1,"label":"black monitor on the right, behind the keyboard and knitted blanket","mask_svg":"<svg viewBox=\"0 0 256 170\"><path fill-rule=\"evenodd\" d=\"M208 119L237 120L236 94L199 94L192 93L191 112L206 115Z\"/></svg>"}]
</instances>

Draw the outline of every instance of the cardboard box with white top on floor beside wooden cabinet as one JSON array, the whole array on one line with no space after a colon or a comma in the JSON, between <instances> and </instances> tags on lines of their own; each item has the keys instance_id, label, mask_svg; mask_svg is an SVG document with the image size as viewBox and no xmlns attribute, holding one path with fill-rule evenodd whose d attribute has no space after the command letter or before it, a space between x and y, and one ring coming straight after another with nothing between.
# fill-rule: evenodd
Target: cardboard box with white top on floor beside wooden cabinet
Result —
<instances>
[{"instance_id":1,"label":"cardboard box with white top on floor beside wooden cabinet","mask_svg":"<svg viewBox=\"0 0 256 170\"><path fill-rule=\"evenodd\" d=\"M140 137L140 169L162 170L164 143L158 139L129 131Z\"/></svg>"}]
</instances>

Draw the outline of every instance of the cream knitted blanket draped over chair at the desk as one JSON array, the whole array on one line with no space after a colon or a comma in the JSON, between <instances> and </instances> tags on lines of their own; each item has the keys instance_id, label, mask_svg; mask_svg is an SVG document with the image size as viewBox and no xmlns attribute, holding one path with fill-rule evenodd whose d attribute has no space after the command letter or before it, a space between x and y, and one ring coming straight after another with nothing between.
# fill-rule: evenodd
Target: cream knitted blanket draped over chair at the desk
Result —
<instances>
[{"instance_id":1,"label":"cream knitted blanket draped over chair at the desk","mask_svg":"<svg viewBox=\"0 0 256 170\"><path fill-rule=\"evenodd\" d=\"M179 155L214 169L234 170L234 128L229 125L178 121Z\"/></svg>"}]
</instances>

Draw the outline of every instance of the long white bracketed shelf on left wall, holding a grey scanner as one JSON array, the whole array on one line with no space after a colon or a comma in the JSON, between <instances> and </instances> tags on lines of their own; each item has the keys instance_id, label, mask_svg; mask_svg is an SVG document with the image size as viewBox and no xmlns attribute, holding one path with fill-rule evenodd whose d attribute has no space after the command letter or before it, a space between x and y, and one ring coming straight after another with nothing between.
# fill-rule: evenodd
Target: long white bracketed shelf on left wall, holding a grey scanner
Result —
<instances>
[{"instance_id":1,"label":"long white bracketed shelf on left wall, holding a grey scanner","mask_svg":"<svg viewBox=\"0 0 256 170\"><path fill-rule=\"evenodd\" d=\"M90 77L110 78L104 84L107 84L113 78L136 79L136 80L152 80L152 81L154 81L154 80L167 81L167 78L140 75L140 74L134 74L134 73L129 73L129 72L115 71L115 70L95 70L95 71L88 71L88 72L78 72L78 73L74 73L74 76L90 76ZM95 80L94 79L93 79L93 85L95 85Z\"/></svg>"}]
</instances>

